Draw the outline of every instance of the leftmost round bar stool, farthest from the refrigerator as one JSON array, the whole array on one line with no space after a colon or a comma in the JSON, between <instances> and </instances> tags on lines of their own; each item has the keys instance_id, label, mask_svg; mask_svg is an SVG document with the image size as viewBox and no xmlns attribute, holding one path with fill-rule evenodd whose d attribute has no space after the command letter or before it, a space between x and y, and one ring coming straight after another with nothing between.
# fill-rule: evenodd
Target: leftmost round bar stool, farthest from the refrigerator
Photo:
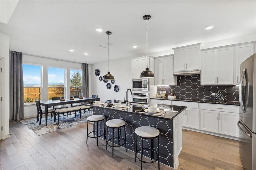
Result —
<instances>
[{"instance_id":1,"label":"leftmost round bar stool, farthest from the refrigerator","mask_svg":"<svg viewBox=\"0 0 256 170\"><path fill-rule=\"evenodd\" d=\"M105 140L105 116L103 115L100 115L100 114L96 114L96 115L92 115L92 116L89 116L87 118L87 135L86 135L86 144L87 144L87 141L88 141L88 137L91 137L91 138L97 138L97 146L98 146L98 138L101 137L102 135L104 135L104 140ZM103 131L99 130L99 122L103 121ZM89 136L90 133L88 133L88 125L89 125L89 122L93 122L94 123L94 131L91 131L90 133L93 133L94 132L94 137L92 136ZM95 124L97 122L97 130L95 129ZM97 136L95 136L95 133L97 132ZM100 132L103 132L103 134L100 135Z\"/></svg>"}]
</instances>

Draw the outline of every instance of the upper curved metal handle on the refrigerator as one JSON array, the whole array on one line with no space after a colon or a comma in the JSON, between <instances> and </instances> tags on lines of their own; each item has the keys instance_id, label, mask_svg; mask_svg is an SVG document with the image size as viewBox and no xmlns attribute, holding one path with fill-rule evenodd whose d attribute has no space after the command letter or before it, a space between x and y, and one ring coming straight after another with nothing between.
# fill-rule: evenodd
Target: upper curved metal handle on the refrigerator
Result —
<instances>
[{"instance_id":1,"label":"upper curved metal handle on the refrigerator","mask_svg":"<svg viewBox=\"0 0 256 170\"><path fill-rule=\"evenodd\" d=\"M243 99L242 99L242 85L243 85L243 78L245 77L245 83L246 83L246 92L245 92L245 105L243 105ZM248 99L249 99L249 80L248 80L248 75L247 75L247 69L243 69L241 78L240 78L240 82L239 82L239 90L238 90L238 94L239 94L239 102L240 102L240 107L243 111L243 113L245 113L246 108L247 108L247 104L248 104Z\"/></svg>"}]
</instances>

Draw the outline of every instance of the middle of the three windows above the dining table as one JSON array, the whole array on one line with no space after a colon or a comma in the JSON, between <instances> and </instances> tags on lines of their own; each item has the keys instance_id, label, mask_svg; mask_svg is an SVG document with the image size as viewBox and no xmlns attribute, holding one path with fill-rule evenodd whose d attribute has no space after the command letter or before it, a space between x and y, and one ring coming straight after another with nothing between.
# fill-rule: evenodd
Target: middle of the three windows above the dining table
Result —
<instances>
[{"instance_id":1,"label":"middle of the three windows above the dining table","mask_svg":"<svg viewBox=\"0 0 256 170\"><path fill-rule=\"evenodd\" d=\"M48 100L52 97L65 97L65 69L48 67Z\"/></svg>"}]
</instances>

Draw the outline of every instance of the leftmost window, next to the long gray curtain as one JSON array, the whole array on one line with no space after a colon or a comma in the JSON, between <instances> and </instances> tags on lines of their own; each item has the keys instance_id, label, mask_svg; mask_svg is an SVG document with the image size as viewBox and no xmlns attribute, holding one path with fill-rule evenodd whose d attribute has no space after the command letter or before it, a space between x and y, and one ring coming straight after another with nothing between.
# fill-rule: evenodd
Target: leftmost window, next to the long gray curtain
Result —
<instances>
[{"instance_id":1,"label":"leftmost window, next to the long gray curtain","mask_svg":"<svg viewBox=\"0 0 256 170\"><path fill-rule=\"evenodd\" d=\"M24 103L41 99L41 66L23 64Z\"/></svg>"}]
</instances>

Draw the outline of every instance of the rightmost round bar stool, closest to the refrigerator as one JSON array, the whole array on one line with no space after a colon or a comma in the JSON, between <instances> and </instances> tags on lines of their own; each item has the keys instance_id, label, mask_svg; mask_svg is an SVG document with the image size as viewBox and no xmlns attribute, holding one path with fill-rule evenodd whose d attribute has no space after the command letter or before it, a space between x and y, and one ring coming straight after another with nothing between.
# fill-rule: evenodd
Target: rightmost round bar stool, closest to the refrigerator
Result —
<instances>
[{"instance_id":1,"label":"rightmost round bar stool, closest to the refrigerator","mask_svg":"<svg viewBox=\"0 0 256 170\"><path fill-rule=\"evenodd\" d=\"M140 164L140 169L142 169L142 162L144 163L153 163L156 162L158 160L158 169L160 169L160 163L159 163L159 130L157 128L151 127L151 126L141 126L139 128L135 129L135 134L136 136L136 152L135 152L135 162L138 159L141 164ZM138 143L138 137L141 138L141 149L137 150L137 143ZM157 138L157 143L158 143L158 151L156 152L155 150L153 150L152 148L152 143L153 143L153 139ZM151 147L150 148L143 148L143 140L144 139L151 139ZM141 159L139 159L137 157L137 152L139 152L141 150ZM143 161L143 150L151 150L151 160L153 157L153 152L155 154L157 154L157 159L150 161L150 162L146 162Z\"/></svg>"}]
</instances>

